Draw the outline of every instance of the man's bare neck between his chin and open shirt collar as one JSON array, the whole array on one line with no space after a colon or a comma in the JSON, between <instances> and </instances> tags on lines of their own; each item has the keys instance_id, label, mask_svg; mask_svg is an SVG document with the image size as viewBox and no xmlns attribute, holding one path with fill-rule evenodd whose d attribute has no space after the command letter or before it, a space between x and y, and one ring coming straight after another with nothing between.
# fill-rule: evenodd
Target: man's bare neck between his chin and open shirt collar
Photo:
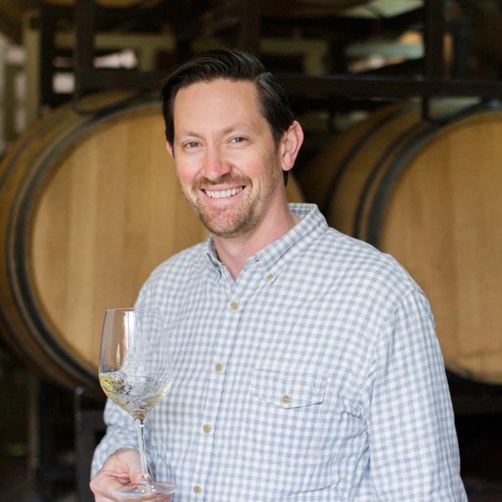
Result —
<instances>
[{"instance_id":1,"label":"man's bare neck between his chin and open shirt collar","mask_svg":"<svg viewBox=\"0 0 502 502\"><path fill-rule=\"evenodd\" d=\"M235 281L249 257L281 238L300 221L301 218L286 206L284 212L275 218L274 222L259 222L253 230L244 235L236 237L213 235L218 258Z\"/></svg>"}]
</instances>

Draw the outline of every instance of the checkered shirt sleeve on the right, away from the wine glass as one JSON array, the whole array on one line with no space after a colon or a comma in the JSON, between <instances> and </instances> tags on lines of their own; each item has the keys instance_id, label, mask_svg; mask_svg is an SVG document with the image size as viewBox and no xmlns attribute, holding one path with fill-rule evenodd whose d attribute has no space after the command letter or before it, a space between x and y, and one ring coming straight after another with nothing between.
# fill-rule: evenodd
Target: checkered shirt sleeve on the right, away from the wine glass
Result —
<instances>
[{"instance_id":1,"label":"checkered shirt sleeve on the right, away from the wine glass","mask_svg":"<svg viewBox=\"0 0 502 502\"><path fill-rule=\"evenodd\" d=\"M467 502L443 357L421 291L392 312L368 377L372 500Z\"/></svg>"}]
</instances>

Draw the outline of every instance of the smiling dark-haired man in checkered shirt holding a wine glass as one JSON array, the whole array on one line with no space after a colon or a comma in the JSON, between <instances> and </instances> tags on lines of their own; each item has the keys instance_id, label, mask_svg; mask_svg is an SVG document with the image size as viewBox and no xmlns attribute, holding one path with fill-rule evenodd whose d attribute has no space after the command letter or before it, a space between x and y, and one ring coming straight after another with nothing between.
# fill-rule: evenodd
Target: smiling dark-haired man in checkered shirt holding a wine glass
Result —
<instances>
[{"instance_id":1,"label":"smiling dark-haired man in checkered shirt holding a wine glass","mask_svg":"<svg viewBox=\"0 0 502 502\"><path fill-rule=\"evenodd\" d=\"M176 501L466 501L427 300L391 257L287 204L303 133L275 78L213 51L163 96L167 149L212 234L137 302L163 312L175 368L146 421L156 478ZM108 402L105 419L98 502L141 471L132 418Z\"/></svg>"}]
</instances>

